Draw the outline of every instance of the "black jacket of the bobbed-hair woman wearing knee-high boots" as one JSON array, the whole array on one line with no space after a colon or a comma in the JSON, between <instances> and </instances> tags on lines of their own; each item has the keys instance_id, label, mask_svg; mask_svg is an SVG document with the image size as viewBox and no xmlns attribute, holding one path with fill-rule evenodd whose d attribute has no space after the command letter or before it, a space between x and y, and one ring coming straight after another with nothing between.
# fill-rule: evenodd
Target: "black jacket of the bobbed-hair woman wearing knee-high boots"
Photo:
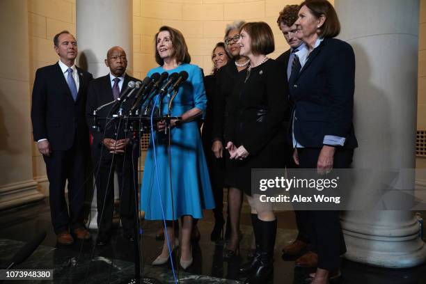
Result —
<instances>
[{"instance_id":1,"label":"black jacket of the bobbed-hair woman wearing knee-high boots","mask_svg":"<svg viewBox=\"0 0 426 284\"><path fill-rule=\"evenodd\" d=\"M226 142L232 141L237 147L244 145L250 155L258 155L271 145L282 147L288 107L287 90L281 84L283 76L283 64L274 59L252 68L246 82L246 74L238 74L229 102ZM265 164L269 160L265 157Z\"/></svg>"}]
</instances>

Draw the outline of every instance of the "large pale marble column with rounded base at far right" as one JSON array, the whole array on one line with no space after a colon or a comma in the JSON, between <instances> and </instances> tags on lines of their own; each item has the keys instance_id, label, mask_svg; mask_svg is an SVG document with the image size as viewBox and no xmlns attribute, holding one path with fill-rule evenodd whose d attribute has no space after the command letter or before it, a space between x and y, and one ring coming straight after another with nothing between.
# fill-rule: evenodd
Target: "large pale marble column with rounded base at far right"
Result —
<instances>
[{"instance_id":1,"label":"large pale marble column with rounded base at far right","mask_svg":"<svg viewBox=\"0 0 426 284\"><path fill-rule=\"evenodd\" d=\"M339 38L356 56L354 125L359 148L354 168L415 168L418 0L336 0ZM406 180L413 188L414 176ZM377 194L356 181L358 197ZM405 185L407 185L405 184ZM377 267L404 268L426 260L425 243L410 211L342 213L345 258Z\"/></svg>"}]
</instances>

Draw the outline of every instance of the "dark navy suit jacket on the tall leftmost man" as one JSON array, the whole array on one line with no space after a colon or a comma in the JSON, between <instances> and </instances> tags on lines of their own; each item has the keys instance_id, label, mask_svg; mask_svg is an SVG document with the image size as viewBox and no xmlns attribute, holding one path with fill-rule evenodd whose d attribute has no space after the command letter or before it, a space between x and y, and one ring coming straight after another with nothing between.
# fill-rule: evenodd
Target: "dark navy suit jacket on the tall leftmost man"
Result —
<instances>
[{"instance_id":1,"label":"dark navy suit jacket on the tall leftmost man","mask_svg":"<svg viewBox=\"0 0 426 284\"><path fill-rule=\"evenodd\" d=\"M84 109L88 83L93 77L78 67L77 72L79 91L75 102L59 63L36 72L31 105L34 141L48 139L52 150L69 150L74 139L88 145Z\"/></svg>"}]
</instances>

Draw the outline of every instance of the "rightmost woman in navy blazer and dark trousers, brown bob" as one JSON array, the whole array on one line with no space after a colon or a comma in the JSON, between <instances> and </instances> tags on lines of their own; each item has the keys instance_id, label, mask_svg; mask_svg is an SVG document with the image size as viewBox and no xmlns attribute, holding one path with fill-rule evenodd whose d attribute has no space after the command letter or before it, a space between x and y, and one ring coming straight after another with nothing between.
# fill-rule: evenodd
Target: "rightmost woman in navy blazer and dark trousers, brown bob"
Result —
<instances>
[{"instance_id":1,"label":"rightmost woman in navy blazer and dark trousers, brown bob","mask_svg":"<svg viewBox=\"0 0 426 284\"><path fill-rule=\"evenodd\" d=\"M336 10L326 0L301 3L297 37L306 50L294 61L289 80L294 161L300 168L349 168L357 147L352 125L355 56L352 47L334 37L340 33ZM338 211L310 211L310 235L318 256L311 283L340 276L346 252Z\"/></svg>"}]
</instances>

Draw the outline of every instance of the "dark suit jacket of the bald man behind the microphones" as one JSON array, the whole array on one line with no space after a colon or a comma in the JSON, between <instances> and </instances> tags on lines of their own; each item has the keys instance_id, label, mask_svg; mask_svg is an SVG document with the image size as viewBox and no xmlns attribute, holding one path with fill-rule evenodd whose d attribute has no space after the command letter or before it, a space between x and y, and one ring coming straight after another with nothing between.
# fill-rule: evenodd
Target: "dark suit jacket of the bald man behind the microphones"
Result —
<instances>
[{"instance_id":1,"label":"dark suit jacket of the bald man behind the microphones","mask_svg":"<svg viewBox=\"0 0 426 284\"><path fill-rule=\"evenodd\" d=\"M125 75L125 79L123 82L123 86L121 88L121 92L123 92L129 83L129 81L140 81L139 79L130 77L129 75ZM105 129L105 122L106 120L98 120L99 125L101 126L100 132L93 132L92 125L93 125L93 110L97 109L97 107L102 106L102 104L107 104L108 102L111 102L114 100L113 93L112 93L112 87L111 87L111 81L109 74L107 76L99 77L97 79L94 79L90 82L90 85L88 87L88 94L87 94L87 104L86 104L86 118L87 123L89 125L90 133L93 135L93 144L92 144L92 156L95 158L99 158L101 154L102 147L104 147L102 141L104 138L112 138L116 139L123 139L123 138L132 138L131 134L124 134L123 131L123 125L125 123L124 120L120 123L121 127L117 131L116 129L116 123L109 123L107 128ZM133 104L132 98L130 100L127 100L124 104L124 111L127 114L129 111L131 104ZM110 110L112 105L104 107L104 109L100 110L97 115L99 118L106 118L108 115L111 116ZM118 136L116 136L116 133L118 132ZM104 148L102 151L102 157L108 159L112 158L112 155L109 154L109 151L107 148Z\"/></svg>"}]
</instances>

